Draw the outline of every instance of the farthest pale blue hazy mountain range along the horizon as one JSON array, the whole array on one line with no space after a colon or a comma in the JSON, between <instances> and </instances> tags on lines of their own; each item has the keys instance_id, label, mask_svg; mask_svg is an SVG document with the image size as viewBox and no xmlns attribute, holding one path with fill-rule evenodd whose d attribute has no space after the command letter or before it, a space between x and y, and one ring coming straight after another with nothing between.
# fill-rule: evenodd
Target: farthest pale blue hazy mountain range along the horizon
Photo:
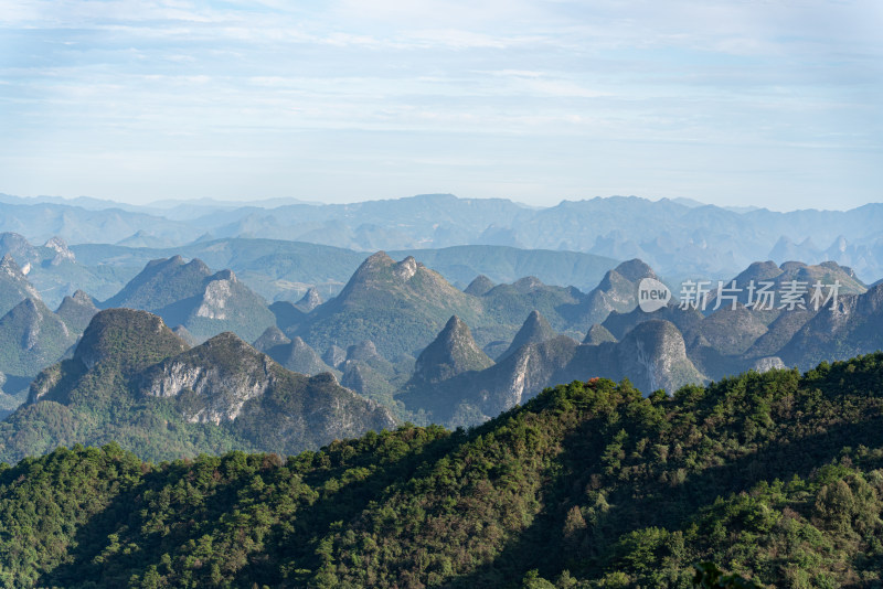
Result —
<instances>
[{"instance_id":1,"label":"farthest pale blue hazy mountain range along the horizon","mask_svg":"<svg viewBox=\"0 0 883 589\"><path fill-rule=\"evenodd\" d=\"M635 196L563 201L545 208L449 194L333 205L278 204L236 206L209 201L137 207L95 200L62 204L57 199L38 203L0 196L0 232L19 233L35 243L60 236L70 244L131 247L234 237L358 251L503 245L619 260L640 258L670 279L724 278L758 259L837 261L868 281L883 275L881 203L845 212L788 213Z\"/></svg>"}]
</instances>

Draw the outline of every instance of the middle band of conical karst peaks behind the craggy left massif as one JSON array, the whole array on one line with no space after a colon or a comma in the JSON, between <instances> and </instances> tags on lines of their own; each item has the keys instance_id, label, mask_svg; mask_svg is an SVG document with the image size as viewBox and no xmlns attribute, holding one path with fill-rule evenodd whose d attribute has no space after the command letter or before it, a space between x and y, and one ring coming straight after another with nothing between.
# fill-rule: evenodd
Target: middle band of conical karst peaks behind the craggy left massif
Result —
<instances>
[{"instance_id":1,"label":"middle band of conical karst peaks behind the craggy left massif","mask_svg":"<svg viewBox=\"0 0 883 589\"><path fill-rule=\"evenodd\" d=\"M172 256L147 263L103 302L77 291L54 313L11 255L2 264L0 300L20 300L0 317L2 387L18 395L0 398L7 410L40 368L72 353L99 308L156 313L189 345L234 332L254 342L248 353L266 353L280 367L328 373L401 419L453 427L573 379L627 377L643 390L672 393L747 370L806 370L883 347L883 286L869 289L832 261L755 263L733 278L777 289L838 282L839 298L820 308L806 293L794 310L755 309L743 292L726 304L712 296L704 311L672 300L650 313L638 308L638 286L660 277L638 259L607 270L588 291L535 277L497 285L483 275L457 288L413 256L396 261L379 251L336 297L311 289L296 302L268 304L232 270Z\"/></svg>"}]
</instances>

